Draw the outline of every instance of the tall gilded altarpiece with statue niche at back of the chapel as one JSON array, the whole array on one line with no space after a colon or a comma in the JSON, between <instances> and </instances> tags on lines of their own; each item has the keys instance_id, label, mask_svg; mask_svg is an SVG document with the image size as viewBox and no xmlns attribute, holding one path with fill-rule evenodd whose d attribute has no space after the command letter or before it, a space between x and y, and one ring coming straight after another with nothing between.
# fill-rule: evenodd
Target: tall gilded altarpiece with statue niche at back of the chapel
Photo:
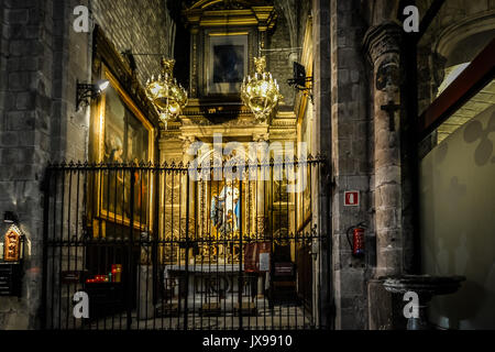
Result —
<instances>
[{"instance_id":1,"label":"tall gilded altarpiece with statue niche at back of the chapel","mask_svg":"<svg viewBox=\"0 0 495 352\"><path fill-rule=\"evenodd\" d=\"M268 161L284 155L296 142L296 114L282 103L261 122L241 100L242 80L254 75L253 58L266 48L276 25L274 7L266 1L189 3L183 15L190 34L190 97L178 119L161 130L160 158L174 167L199 164L209 175L191 180L187 173L172 173L162 180L161 257L167 264L230 265L242 260L243 241L294 232L288 215L295 196L285 191L287 179L273 180L273 167L264 180L216 177L215 167L235 158L266 162L250 155L253 143L270 144Z\"/></svg>"}]
</instances>

